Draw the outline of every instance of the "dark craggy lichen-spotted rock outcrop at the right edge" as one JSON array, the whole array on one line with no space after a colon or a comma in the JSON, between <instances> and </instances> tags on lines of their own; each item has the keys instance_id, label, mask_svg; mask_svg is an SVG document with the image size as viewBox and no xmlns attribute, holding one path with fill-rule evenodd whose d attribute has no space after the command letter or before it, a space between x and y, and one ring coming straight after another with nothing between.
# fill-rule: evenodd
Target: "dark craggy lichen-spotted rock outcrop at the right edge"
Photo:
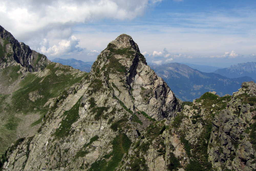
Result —
<instances>
[{"instance_id":1,"label":"dark craggy lichen-spotted rock outcrop at the right edge","mask_svg":"<svg viewBox=\"0 0 256 171\"><path fill-rule=\"evenodd\" d=\"M255 169L256 84L244 82L215 116L208 146L209 161L218 170Z\"/></svg>"}]
</instances>

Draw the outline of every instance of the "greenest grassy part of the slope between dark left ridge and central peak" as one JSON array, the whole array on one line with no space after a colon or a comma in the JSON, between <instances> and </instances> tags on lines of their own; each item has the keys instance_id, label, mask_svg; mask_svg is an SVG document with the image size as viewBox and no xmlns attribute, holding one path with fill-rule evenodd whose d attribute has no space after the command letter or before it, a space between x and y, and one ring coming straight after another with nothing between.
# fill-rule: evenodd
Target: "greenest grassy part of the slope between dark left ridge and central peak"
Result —
<instances>
[{"instance_id":1,"label":"greenest grassy part of the slope between dark left ridge and central peak","mask_svg":"<svg viewBox=\"0 0 256 171\"><path fill-rule=\"evenodd\" d=\"M64 90L69 88L75 83L80 82L85 75L81 77L74 77L72 74L61 74L57 76L56 71L68 72L70 67L64 66L64 68L56 67L55 63L48 65L46 68L50 69L49 75L45 77L37 77L35 73L28 73L28 75L20 82L20 88L14 92L12 97L12 103L15 111L21 111L27 114L31 111L41 112L45 103L50 98L58 97ZM34 102L30 99L34 98ZM26 105L24 105L26 104Z\"/></svg>"}]
</instances>

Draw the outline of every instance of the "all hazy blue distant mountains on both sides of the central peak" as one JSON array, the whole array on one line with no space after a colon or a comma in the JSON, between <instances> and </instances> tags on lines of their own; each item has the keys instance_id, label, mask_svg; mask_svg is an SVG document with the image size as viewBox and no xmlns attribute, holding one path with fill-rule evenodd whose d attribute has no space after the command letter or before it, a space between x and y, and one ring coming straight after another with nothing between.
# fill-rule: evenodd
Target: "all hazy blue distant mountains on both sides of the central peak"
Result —
<instances>
[{"instance_id":1,"label":"all hazy blue distant mountains on both sides of the central peak","mask_svg":"<svg viewBox=\"0 0 256 171\"><path fill-rule=\"evenodd\" d=\"M90 72L93 64L93 62L83 62L76 59L56 58L52 61L61 63L63 65L69 65L73 68L86 72ZM222 74L218 73L199 71L206 70L207 67L209 68L208 71L213 71L214 69L217 69L216 71L222 71L228 68L218 69L217 67L212 66L188 64L194 68L197 68L193 69L188 65L180 63L154 65L153 63L148 62L148 65L157 73L158 76L162 77L166 81L168 86L175 93L176 97L183 101L193 101L193 99L199 98L207 91L216 91L217 94L221 96L225 94L232 95L233 92L236 92L240 88L242 82L254 81L253 78L248 77L247 75L238 76L239 78L228 78L228 76L223 76ZM241 64L238 64L237 66L241 66ZM235 71L234 67L233 70ZM254 71L254 78L255 73L256 72ZM250 75L253 74L251 73Z\"/></svg>"}]
</instances>

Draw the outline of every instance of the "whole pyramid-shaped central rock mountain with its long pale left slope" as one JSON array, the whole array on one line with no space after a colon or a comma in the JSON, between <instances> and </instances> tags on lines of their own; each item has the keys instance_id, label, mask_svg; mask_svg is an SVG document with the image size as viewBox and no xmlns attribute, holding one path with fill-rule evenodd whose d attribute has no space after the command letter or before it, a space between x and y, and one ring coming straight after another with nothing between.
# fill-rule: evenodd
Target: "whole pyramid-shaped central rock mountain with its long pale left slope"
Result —
<instances>
[{"instance_id":1,"label":"whole pyramid-shaped central rock mountain with its long pale left slope","mask_svg":"<svg viewBox=\"0 0 256 171\"><path fill-rule=\"evenodd\" d=\"M173 92L128 35L112 41L89 75L63 94L46 104L49 112L38 134L9 148L4 170L121 168L140 132L180 110ZM31 95L32 101L40 98L37 92Z\"/></svg>"}]
</instances>

